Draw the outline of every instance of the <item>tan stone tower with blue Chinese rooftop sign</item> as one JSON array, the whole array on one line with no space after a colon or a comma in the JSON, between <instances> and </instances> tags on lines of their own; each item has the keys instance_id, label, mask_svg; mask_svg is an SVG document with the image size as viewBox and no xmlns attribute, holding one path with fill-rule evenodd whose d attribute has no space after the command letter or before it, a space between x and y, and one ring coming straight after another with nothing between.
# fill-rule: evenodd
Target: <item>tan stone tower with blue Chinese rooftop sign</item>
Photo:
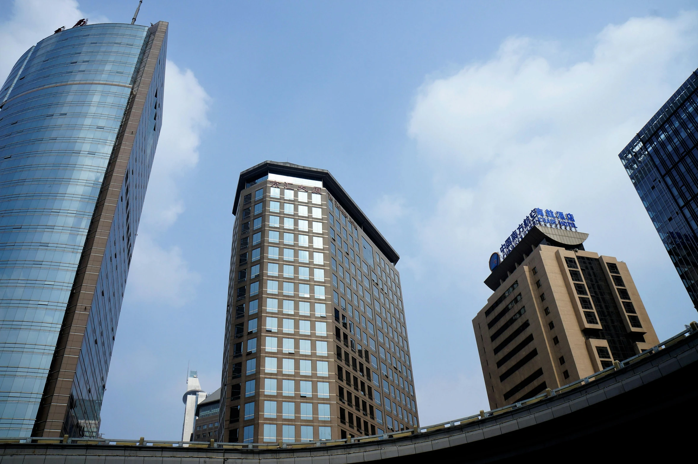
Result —
<instances>
[{"instance_id":1,"label":"tan stone tower with blue Chinese rooftop sign","mask_svg":"<svg viewBox=\"0 0 698 464\"><path fill-rule=\"evenodd\" d=\"M587 237L572 214L534 209L491 258L473 329L492 409L659 343L628 266L584 250Z\"/></svg>"}]
</instances>

